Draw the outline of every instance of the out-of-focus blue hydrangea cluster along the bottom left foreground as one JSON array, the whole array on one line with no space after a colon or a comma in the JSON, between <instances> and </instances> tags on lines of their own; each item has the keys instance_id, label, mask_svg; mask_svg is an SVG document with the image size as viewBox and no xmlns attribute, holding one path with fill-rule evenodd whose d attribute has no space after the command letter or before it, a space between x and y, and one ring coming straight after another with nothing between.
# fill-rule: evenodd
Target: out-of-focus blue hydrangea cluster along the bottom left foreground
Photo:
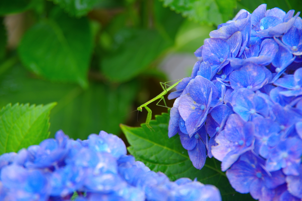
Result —
<instances>
[{"instance_id":1,"label":"out-of-focus blue hydrangea cluster along the bottom left foreground","mask_svg":"<svg viewBox=\"0 0 302 201\"><path fill-rule=\"evenodd\" d=\"M116 135L101 131L81 141L58 131L55 139L0 156L0 200L221 201L215 186L171 182L126 154Z\"/></svg>"}]
</instances>

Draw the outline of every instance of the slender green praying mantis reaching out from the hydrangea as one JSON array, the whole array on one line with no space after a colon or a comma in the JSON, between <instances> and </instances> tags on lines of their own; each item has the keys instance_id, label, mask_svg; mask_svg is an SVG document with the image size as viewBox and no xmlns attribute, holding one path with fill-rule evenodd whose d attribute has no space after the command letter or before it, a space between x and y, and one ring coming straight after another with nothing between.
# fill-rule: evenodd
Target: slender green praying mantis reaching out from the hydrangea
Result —
<instances>
[{"instance_id":1,"label":"slender green praying mantis reaching out from the hydrangea","mask_svg":"<svg viewBox=\"0 0 302 201\"><path fill-rule=\"evenodd\" d=\"M177 80L178 80L178 81L177 81ZM154 101L156 101L156 100L159 99L159 101L156 103L156 105L158 105L159 102L160 102L161 100L163 100L165 106L163 106L163 105L159 105L159 106L167 107L167 104L166 104L166 102L165 102L164 96L168 93L168 91L170 91L171 89L173 89L176 85L178 85L178 83L180 83L180 82L182 81L182 79L177 79L177 80L169 81L169 82L177 81L175 84L173 84L173 85L171 85L171 86L169 86L169 85L166 84L166 83L169 83L169 82L165 82L165 83L160 82L160 86L162 87L162 89L163 89L164 91L161 92L161 93L160 93L159 95L157 95L156 97L154 97L153 99L151 99L151 100L145 102L143 105L140 105L140 106L137 108L137 110L140 111L140 112L142 112L143 107L147 110L148 114L147 114L147 119L146 119L146 126L147 126L148 128L152 128L152 127L149 125L149 123L150 123L150 121L151 121L151 118L152 118L152 110L151 110L150 108L148 108L147 105L149 105L151 102L154 102ZM167 86L169 86L169 88L167 88ZM167 107L167 108L169 108L169 107Z\"/></svg>"}]
</instances>

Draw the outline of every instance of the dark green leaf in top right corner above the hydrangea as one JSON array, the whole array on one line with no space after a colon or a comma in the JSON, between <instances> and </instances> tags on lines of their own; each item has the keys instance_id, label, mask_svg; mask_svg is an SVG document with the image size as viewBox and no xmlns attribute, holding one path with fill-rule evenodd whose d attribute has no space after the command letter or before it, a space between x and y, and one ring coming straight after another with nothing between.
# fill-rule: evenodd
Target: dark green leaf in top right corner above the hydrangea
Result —
<instances>
[{"instance_id":1,"label":"dark green leaf in top right corner above the hydrangea","mask_svg":"<svg viewBox=\"0 0 302 201\"><path fill-rule=\"evenodd\" d=\"M278 7L285 12L288 12L291 9L294 9L296 12L302 11L302 4L300 0L239 0L238 8L236 9L235 13L240 9L246 9L247 11L252 13L261 4L267 4L266 9Z\"/></svg>"}]
</instances>

